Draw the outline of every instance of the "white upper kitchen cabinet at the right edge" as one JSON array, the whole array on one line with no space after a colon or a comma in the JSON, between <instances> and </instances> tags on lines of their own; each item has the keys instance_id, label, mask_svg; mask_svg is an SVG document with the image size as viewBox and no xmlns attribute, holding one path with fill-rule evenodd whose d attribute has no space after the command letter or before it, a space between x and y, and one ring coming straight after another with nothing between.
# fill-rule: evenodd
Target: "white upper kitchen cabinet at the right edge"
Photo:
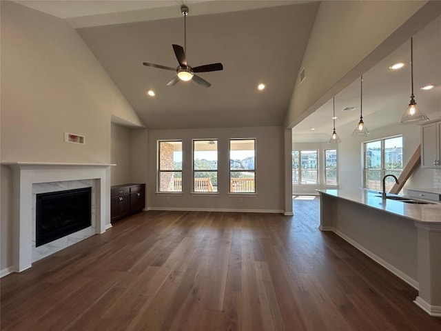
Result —
<instances>
[{"instance_id":1,"label":"white upper kitchen cabinet at the right edge","mask_svg":"<svg viewBox=\"0 0 441 331\"><path fill-rule=\"evenodd\" d=\"M421 126L421 168L441 168L441 120Z\"/></svg>"}]
</instances>

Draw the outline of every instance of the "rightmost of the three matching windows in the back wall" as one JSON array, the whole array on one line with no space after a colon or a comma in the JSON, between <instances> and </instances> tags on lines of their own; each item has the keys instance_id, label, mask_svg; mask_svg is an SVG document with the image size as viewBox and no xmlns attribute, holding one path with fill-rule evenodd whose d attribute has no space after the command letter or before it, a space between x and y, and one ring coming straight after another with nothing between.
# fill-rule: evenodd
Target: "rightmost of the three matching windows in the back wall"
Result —
<instances>
[{"instance_id":1,"label":"rightmost of the three matching windows in the back wall","mask_svg":"<svg viewBox=\"0 0 441 331\"><path fill-rule=\"evenodd\" d=\"M229 140L229 192L255 193L256 139Z\"/></svg>"}]
</instances>

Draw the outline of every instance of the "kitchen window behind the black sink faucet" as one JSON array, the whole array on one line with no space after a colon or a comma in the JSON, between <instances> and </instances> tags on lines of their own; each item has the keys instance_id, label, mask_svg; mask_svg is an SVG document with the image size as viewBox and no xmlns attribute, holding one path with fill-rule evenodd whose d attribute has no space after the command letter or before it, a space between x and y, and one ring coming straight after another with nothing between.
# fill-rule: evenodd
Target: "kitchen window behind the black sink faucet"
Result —
<instances>
[{"instance_id":1,"label":"kitchen window behind the black sink faucet","mask_svg":"<svg viewBox=\"0 0 441 331\"><path fill-rule=\"evenodd\" d=\"M397 178L402 172L402 136L368 141L363 143L364 187L382 190L382 178L394 174ZM390 191L395 180L386 179L386 190Z\"/></svg>"}]
</instances>

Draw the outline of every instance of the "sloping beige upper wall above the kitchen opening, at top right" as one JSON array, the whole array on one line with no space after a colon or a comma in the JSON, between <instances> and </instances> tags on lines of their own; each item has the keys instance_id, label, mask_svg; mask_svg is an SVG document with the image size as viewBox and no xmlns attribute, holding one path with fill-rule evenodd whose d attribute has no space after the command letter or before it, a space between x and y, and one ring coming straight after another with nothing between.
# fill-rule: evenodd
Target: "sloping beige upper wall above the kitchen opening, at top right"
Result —
<instances>
[{"instance_id":1,"label":"sloping beige upper wall above the kitchen opening, at top right","mask_svg":"<svg viewBox=\"0 0 441 331\"><path fill-rule=\"evenodd\" d=\"M408 40L439 15L440 6L440 1L322 1L302 60L306 79L297 80L285 126L300 123Z\"/></svg>"}]
</instances>

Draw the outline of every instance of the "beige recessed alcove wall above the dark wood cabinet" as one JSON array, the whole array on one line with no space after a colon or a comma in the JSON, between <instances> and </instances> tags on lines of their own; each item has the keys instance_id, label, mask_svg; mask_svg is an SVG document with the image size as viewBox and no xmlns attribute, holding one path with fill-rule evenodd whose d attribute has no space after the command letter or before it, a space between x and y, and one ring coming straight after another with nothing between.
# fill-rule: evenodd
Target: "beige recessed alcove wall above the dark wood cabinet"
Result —
<instances>
[{"instance_id":1,"label":"beige recessed alcove wall above the dark wood cabinet","mask_svg":"<svg viewBox=\"0 0 441 331\"><path fill-rule=\"evenodd\" d=\"M116 164L110 168L111 185L131 182L132 146L130 128L112 123L111 128L110 163Z\"/></svg>"}]
</instances>

